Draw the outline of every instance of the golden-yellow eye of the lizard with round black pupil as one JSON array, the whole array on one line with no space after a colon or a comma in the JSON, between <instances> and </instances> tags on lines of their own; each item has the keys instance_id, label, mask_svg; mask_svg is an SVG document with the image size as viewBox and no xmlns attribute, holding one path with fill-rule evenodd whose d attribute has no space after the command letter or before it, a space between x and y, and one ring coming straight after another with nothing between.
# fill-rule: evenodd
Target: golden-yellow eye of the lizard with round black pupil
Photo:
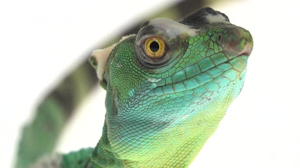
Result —
<instances>
[{"instance_id":1,"label":"golden-yellow eye of the lizard with round black pupil","mask_svg":"<svg viewBox=\"0 0 300 168\"><path fill-rule=\"evenodd\" d=\"M144 51L149 58L161 58L166 54L166 44L160 36L150 36L144 42Z\"/></svg>"}]
</instances>

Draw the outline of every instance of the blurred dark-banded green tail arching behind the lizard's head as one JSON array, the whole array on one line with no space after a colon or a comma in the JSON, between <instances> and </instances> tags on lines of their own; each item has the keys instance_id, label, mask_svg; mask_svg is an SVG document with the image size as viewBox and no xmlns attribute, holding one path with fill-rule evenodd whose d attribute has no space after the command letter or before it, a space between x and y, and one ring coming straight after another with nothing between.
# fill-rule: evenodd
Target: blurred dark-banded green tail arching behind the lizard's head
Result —
<instances>
[{"instance_id":1,"label":"blurred dark-banded green tail arching behind the lizard's head","mask_svg":"<svg viewBox=\"0 0 300 168\"><path fill-rule=\"evenodd\" d=\"M161 10L156 9L147 13L145 15L147 17L143 20L149 20L156 16L179 20L203 6L203 1L198 0L175 2ZM136 21L136 24L131 24L130 28L122 30L119 37L111 38L110 41L98 48L109 46L124 35L136 33L141 24L142 22ZM34 111L34 118L22 130L16 156L16 168L28 167L40 157L52 153L58 137L76 107L94 88L99 87L95 70L87 59L90 54L86 54L85 62L66 74L39 103Z\"/></svg>"}]
</instances>

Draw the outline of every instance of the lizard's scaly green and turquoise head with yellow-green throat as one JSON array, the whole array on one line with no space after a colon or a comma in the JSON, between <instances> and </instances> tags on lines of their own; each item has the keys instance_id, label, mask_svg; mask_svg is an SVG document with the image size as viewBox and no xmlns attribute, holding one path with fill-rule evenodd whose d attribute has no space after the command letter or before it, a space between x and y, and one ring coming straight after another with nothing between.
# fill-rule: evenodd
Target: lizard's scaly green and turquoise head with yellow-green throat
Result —
<instances>
[{"instance_id":1,"label":"lizard's scaly green and turquoise head with yellow-green throat","mask_svg":"<svg viewBox=\"0 0 300 168\"><path fill-rule=\"evenodd\" d=\"M98 76L116 157L164 165L180 155L176 165L188 165L241 91L252 48L249 31L211 8L147 21L110 48Z\"/></svg>"}]
</instances>

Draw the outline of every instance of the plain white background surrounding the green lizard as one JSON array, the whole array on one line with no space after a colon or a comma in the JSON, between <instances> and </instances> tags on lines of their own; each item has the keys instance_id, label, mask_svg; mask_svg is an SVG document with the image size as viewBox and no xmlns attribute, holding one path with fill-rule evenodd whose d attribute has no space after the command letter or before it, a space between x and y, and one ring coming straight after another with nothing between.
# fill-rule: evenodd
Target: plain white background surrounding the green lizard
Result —
<instances>
[{"instance_id":1,"label":"plain white background surrounding the green lizard","mask_svg":"<svg viewBox=\"0 0 300 168\"><path fill-rule=\"evenodd\" d=\"M293 1L292 1L293 2ZM191 167L300 167L299 5L289 1L215 1L254 38L244 89ZM294 1L296 2L296 1ZM63 74L161 1L1 1L1 167L11 167L21 126ZM105 91L84 102L57 151L95 146Z\"/></svg>"}]
</instances>

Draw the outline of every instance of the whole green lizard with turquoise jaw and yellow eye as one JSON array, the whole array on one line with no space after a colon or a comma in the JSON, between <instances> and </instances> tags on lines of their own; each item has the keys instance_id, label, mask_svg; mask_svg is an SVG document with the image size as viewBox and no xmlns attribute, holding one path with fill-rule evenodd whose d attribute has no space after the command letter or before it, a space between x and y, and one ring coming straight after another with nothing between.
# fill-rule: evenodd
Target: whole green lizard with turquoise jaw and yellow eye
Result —
<instances>
[{"instance_id":1,"label":"whole green lizard with turquoise jaw and yellow eye","mask_svg":"<svg viewBox=\"0 0 300 168\"><path fill-rule=\"evenodd\" d=\"M241 92L252 48L249 31L211 8L178 23L149 20L89 59L107 92L97 146L38 160L79 102L70 76L24 128L16 166L187 167ZM89 71L84 65L75 73Z\"/></svg>"}]
</instances>

